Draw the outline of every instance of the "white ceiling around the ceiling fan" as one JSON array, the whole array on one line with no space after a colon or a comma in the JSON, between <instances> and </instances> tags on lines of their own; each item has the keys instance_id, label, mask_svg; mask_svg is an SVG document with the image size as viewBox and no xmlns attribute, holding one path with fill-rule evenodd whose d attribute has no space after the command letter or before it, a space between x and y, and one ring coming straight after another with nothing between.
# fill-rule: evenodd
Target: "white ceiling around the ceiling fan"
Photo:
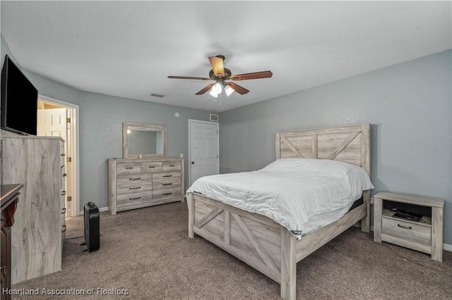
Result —
<instances>
[{"instance_id":1,"label":"white ceiling around the ceiling fan","mask_svg":"<svg viewBox=\"0 0 452 300\"><path fill-rule=\"evenodd\" d=\"M226 111L451 49L451 1L1 1L21 68L79 90ZM249 89L195 93L208 56ZM150 94L163 94L156 98Z\"/></svg>"}]
</instances>

